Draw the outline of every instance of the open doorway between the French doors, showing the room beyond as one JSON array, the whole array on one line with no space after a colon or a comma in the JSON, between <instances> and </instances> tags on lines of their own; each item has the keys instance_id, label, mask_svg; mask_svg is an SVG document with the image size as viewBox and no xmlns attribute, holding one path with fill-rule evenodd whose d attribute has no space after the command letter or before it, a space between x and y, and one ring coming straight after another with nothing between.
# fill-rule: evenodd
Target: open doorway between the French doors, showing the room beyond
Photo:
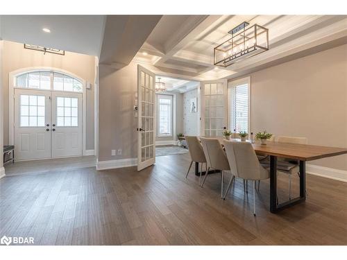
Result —
<instances>
[{"instance_id":1,"label":"open doorway between the French doors, showing the room beyond","mask_svg":"<svg viewBox=\"0 0 347 260\"><path fill-rule=\"evenodd\" d=\"M156 76L156 83L164 84L157 91L155 156L188 153L184 135L198 135L199 83L194 80Z\"/></svg>"}]
</instances>

